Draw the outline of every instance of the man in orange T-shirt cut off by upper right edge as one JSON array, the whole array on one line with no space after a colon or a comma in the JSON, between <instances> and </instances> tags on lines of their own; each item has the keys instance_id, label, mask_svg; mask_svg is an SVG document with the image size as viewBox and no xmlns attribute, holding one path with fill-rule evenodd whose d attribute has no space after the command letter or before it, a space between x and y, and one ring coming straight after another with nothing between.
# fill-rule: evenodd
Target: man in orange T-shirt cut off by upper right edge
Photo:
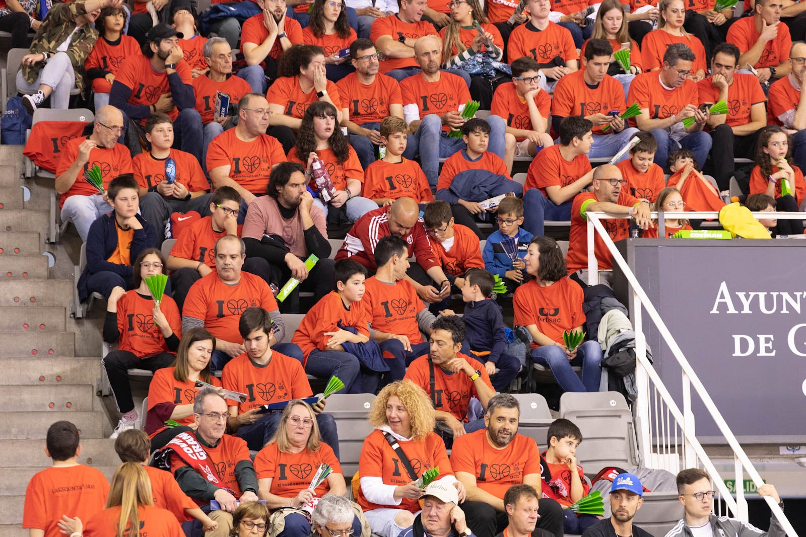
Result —
<instances>
[{"instance_id":1,"label":"man in orange T-shirt cut off by upper right edge","mask_svg":"<svg viewBox=\"0 0 806 537\"><path fill-rule=\"evenodd\" d=\"M806 6L806 4L804 4ZM795 146L795 163L806 169L806 44L795 43L789 53L792 72L770 86L768 116L771 124L783 126Z\"/></svg>"}]
</instances>

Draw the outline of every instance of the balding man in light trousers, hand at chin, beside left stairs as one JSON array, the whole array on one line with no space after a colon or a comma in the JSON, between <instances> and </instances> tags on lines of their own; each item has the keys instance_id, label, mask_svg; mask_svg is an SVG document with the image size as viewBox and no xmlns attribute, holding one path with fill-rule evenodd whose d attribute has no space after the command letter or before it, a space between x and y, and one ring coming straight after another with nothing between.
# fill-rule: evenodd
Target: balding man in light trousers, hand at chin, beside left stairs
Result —
<instances>
[{"instance_id":1,"label":"balding man in light trousers, hand at chin, beside left stairs","mask_svg":"<svg viewBox=\"0 0 806 537\"><path fill-rule=\"evenodd\" d=\"M56 192L61 196L61 220L73 221L82 242L86 242L89 226L102 214L110 212L106 194L101 194L84 179L85 171L98 166L104 190L110 180L132 173L131 153L118 137L123 130L123 114L106 105L95 115L93 131L64 144L63 155L56 167Z\"/></svg>"}]
</instances>

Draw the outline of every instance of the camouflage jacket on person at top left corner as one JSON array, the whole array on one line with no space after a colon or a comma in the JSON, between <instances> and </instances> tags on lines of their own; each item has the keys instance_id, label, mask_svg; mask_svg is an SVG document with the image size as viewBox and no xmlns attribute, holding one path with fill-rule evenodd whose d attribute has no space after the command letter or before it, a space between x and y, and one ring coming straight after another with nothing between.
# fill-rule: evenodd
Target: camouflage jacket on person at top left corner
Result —
<instances>
[{"instance_id":1,"label":"camouflage jacket on person at top left corner","mask_svg":"<svg viewBox=\"0 0 806 537\"><path fill-rule=\"evenodd\" d=\"M48 52L49 55L56 54L56 48L76 29L76 18L85 13L84 2L54 4L28 50L31 54L42 52ZM98 31L91 24L85 24L73 34L67 48L67 56L70 57L73 71L76 73L76 87L81 91L84 90L84 60L89 56L89 52L92 52L96 39ZM44 65L41 61L33 65L23 65L25 80L33 84Z\"/></svg>"}]
</instances>

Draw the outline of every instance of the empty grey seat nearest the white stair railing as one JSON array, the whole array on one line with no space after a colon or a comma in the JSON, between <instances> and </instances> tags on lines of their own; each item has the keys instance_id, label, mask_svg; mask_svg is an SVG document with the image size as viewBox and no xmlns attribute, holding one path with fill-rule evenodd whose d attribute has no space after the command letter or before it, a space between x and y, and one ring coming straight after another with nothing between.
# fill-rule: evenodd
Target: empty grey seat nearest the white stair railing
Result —
<instances>
[{"instance_id":1,"label":"empty grey seat nearest the white stair railing","mask_svg":"<svg viewBox=\"0 0 806 537\"><path fill-rule=\"evenodd\" d=\"M638 441L633 413L617 391L566 392L559 399L559 415L580 428L584 438L576 457L595 475L605 466L638 468Z\"/></svg>"}]
</instances>

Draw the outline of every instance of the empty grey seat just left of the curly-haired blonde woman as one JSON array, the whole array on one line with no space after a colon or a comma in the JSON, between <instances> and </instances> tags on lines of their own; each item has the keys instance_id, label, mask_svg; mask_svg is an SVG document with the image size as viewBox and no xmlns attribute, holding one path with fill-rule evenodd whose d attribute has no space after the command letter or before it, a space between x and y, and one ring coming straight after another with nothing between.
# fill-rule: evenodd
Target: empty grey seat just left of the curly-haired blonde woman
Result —
<instances>
[{"instance_id":1,"label":"empty grey seat just left of the curly-haired blonde woman","mask_svg":"<svg viewBox=\"0 0 806 537\"><path fill-rule=\"evenodd\" d=\"M327 398L325 411L333 416L339 428L339 462L348 483L358 472L361 448L373 430L367 421L373 400L373 394L333 394Z\"/></svg>"}]
</instances>

